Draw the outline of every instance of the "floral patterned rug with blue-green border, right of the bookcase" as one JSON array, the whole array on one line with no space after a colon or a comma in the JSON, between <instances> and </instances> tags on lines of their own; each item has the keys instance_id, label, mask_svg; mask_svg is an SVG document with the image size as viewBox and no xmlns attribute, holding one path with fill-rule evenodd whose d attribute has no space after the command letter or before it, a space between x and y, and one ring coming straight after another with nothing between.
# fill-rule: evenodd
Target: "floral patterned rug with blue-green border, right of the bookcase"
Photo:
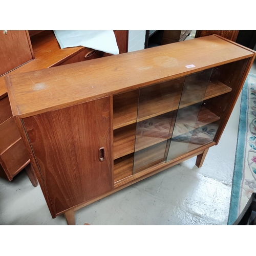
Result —
<instances>
[{"instance_id":1,"label":"floral patterned rug with blue-green border, right of the bookcase","mask_svg":"<svg viewBox=\"0 0 256 256\"><path fill-rule=\"evenodd\" d=\"M256 192L256 74L250 73L242 89L228 225L236 221L253 192Z\"/></svg>"}]
</instances>

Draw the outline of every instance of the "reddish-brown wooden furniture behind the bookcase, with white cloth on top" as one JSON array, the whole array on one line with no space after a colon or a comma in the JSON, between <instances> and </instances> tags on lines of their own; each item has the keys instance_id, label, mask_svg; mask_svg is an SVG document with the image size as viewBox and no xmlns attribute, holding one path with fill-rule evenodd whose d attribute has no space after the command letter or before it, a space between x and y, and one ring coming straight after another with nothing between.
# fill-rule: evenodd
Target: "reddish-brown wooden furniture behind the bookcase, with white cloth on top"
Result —
<instances>
[{"instance_id":1,"label":"reddish-brown wooden furniture behind the bookcase, with white cloth on top","mask_svg":"<svg viewBox=\"0 0 256 256\"><path fill-rule=\"evenodd\" d=\"M127 52L128 31L115 30L119 52ZM63 66L104 57L101 51L86 47L60 49L53 31L7 31L0 34L0 176L8 180L26 167L33 185L37 185L30 159L12 117L4 76ZM32 60L33 58L33 60ZM31 61L30 61L31 60ZM40 89L40 86L35 90ZM34 178L33 178L34 177ZM34 182L35 181L35 182Z\"/></svg>"}]
</instances>

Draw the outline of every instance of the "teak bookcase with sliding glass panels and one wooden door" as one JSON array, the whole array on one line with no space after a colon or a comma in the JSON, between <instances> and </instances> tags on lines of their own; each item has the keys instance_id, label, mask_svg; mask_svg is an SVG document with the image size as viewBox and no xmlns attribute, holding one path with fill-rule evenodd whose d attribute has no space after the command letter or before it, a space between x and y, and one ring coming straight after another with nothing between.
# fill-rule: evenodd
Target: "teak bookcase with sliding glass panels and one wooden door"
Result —
<instances>
[{"instance_id":1,"label":"teak bookcase with sliding glass panels and one wooden door","mask_svg":"<svg viewBox=\"0 0 256 256\"><path fill-rule=\"evenodd\" d=\"M210 35L6 76L53 218L216 145L255 52Z\"/></svg>"}]
</instances>

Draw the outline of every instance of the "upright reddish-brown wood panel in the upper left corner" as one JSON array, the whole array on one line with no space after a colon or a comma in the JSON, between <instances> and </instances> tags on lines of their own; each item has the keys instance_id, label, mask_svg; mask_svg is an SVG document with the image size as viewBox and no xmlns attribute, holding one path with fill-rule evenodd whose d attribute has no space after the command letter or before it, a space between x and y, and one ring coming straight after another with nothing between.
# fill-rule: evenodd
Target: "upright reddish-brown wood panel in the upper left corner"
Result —
<instances>
[{"instance_id":1,"label":"upright reddish-brown wood panel in the upper left corner","mask_svg":"<svg viewBox=\"0 0 256 256\"><path fill-rule=\"evenodd\" d=\"M25 30L8 30L0 33L0 76L33 59Z\"/></svg>"}]
</instances>

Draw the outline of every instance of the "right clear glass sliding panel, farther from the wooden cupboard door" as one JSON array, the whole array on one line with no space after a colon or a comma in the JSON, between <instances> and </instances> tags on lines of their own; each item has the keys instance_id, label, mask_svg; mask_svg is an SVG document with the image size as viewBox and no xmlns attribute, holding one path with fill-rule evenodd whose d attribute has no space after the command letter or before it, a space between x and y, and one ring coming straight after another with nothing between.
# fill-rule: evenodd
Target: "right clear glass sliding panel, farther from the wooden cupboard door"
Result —
<instances>
[{"instance_id":1,"label":"right clear glass sliding panel, farther from the wooden cupboard door","mask_svg":"<svg viewBox=\"0 0 256 256\"><path fill-rule=\"evenodd\" d=\"M211 72L208 69L186 76L166 161L212 141L211 128L207 134L205 126L219 118L202 105Z\"/></svg>"}]
</instances>

